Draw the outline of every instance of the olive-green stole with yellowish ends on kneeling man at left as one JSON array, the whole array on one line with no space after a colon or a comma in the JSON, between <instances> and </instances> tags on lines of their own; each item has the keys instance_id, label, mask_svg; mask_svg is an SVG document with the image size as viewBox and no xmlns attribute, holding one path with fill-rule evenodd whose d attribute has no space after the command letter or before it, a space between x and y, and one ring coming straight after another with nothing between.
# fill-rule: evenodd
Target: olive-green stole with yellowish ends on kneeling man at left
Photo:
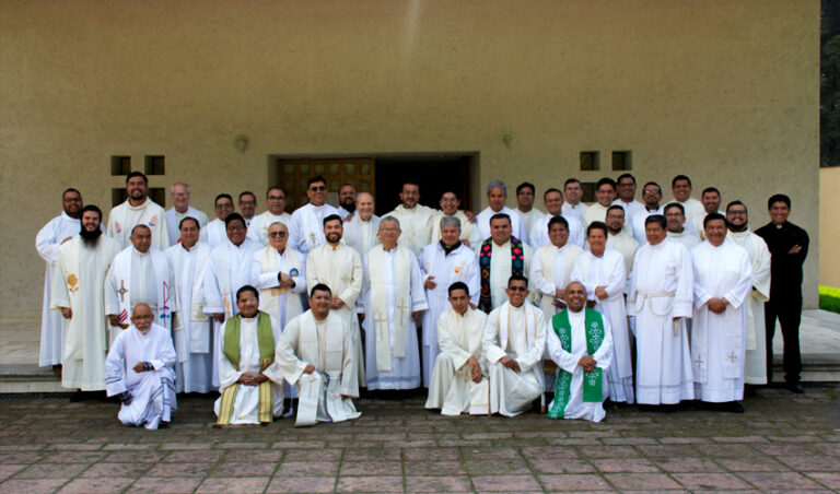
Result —
<instances>
[{"instance_id":1,"label":"olive-green stole with yellowish ends on kneeling man at left","mask_svg":"<svg viewBox=\"0 0 840 494\"><path fill-rule=\"evenodd\" d=\"M233 368L240 369L240 326L242 324L242 315L237 314L228 319L224 325L224 356L231 361ZM275 362L275 334L271 331L271 317L264 313L257 313L257 345L259 346L259 369L265 370L266 367ZM233 385L224 388L222 391L222 402L219 407L219 421L215 425L228 425L233 417L233 404L236 402L236 393L240 391L242 384L234 383ZM275 403L275 388L271 380L266 380L257 386L259 398L257 416L259 422L271 422L273 403Z\"/></svg>"}]
</instances>

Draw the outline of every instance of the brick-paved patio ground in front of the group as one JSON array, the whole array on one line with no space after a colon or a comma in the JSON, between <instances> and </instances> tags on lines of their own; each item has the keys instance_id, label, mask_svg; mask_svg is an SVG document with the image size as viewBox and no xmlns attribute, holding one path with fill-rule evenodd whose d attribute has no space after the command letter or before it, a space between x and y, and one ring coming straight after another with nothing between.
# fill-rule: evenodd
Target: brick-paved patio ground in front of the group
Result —
<instances>
[{"instance_id":1,"label":"brick-paved patio ground in front of the group","mask_svg":"<svg viewBox=\"0 0 840 494\"><path fill-rule=\"evenodd\" d=\"M0 401L0 492L840 491L840 388L760 391L747 413L610 410L600 424L443 417L368 399L352 423L212 430L186 397L170 428L117 405Z\"/></svg>"}]
</instances>

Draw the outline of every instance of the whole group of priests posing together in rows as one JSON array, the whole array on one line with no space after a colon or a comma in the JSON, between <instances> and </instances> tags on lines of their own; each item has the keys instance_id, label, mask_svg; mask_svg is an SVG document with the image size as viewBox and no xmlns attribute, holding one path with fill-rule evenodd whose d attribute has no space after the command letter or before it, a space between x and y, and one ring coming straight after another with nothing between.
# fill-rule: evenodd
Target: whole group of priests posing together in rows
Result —
<instances>
[{"instance_id":1,"label":"whole group of priests posing together in rows","mask_svg":"<svg viewBox=\"0 0 840 494\"><path fill-rule=\"evenodd\" d=\"M770 198L757 235L740 201L720 212L718 189L697 201L681 175L672 190L662 207L648 183L635 201L625 174L599 180L587 207L569 179L544 192L542 213L534 185L511 209L495 180L472 214L452 191L441 210L421 205L406 181L380 217L350 184L327 204L316 176L292 214L275 186L264 213L252 192L240 212L221 193L208 221L186 184L164 211L135 172L105 223L68 189L36 242L40 365L77 398L107 390L124 423L147 427L170 421L176 392L217 390L219 426L291 416L295 402L301 425L354 419L364 387L429 388L427 408L444 414L513 416L546 391L551 417L602 420L606 399L740 412L745 385L769 380L778 317L801 392L808 238L786 221L790 198Z\"/></svg>"}]
</instances>

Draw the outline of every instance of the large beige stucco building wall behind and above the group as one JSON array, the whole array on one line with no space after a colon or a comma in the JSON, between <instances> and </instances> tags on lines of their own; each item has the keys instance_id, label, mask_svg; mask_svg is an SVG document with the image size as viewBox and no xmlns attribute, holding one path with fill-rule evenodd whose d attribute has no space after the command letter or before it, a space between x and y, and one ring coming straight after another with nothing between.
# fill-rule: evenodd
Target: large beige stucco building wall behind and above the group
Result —
<instances>
[{"instance_id":1,"label":"large beige stucco building wall behind and above the group","mask_svg":"<svg viewBox=\"0 0 840 494\"><path fill-rule=\"evenodd\" d=\"M482 187L545 190L617 175L580 151L604 168L631 150L640 180L689 174L756 224L790 193L816 246L818 32L818 0L4 0L2 310L40 303L34 237L60 191L109 205L122 154L165 155L151 186L187 180L211 212L264 190L270 154L472 151Z\"/></svg>"}]
</instances>

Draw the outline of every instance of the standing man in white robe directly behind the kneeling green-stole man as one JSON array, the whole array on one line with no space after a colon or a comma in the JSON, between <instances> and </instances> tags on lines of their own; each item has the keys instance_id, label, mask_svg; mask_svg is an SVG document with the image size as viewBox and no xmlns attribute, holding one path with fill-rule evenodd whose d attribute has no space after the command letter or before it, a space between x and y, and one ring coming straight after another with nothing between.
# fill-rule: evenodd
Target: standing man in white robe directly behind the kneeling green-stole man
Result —
<instances>
[{"instance_id":1,"label":"standing man in white robe directly behind the kneeling green-stole man","mask_svg":"<svg viewBox=\"0 0 840 494\"><path fill-rule=\"evenodd\" d=\"M612 358L609 374L609 399L633 402L633 363L630 356L630 331L627 329L625 287L627 273L625 259L607 247L607 225L596 221L586 230L590 250L578 258L572 268L572 280L586 289L587 305L604 316L611 328Z\"/></svg>"}]
</instances>

